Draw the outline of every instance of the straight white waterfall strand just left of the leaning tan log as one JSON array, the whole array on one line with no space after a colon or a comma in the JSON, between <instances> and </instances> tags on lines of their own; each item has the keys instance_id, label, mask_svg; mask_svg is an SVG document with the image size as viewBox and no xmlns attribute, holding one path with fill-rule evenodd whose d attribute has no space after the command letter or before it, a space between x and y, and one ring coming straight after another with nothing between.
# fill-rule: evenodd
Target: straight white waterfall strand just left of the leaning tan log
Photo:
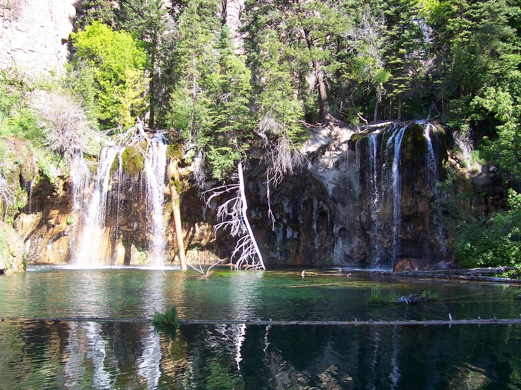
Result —
<instances>
[{"instance_id":1,"label":"straight white waterfall strand just left of the leaning tan log","mask_svg":"<svg viewBox=\"0 0 521 390\"><path fill-rule=\"evenodd\" d=\"M148 244L148 260L151 265L165 265L165 221L163 204L165 201L166 148L162 133L156 133L151 140L145 159L147 233L152 235Z\"/></svg>"}]
</instances>

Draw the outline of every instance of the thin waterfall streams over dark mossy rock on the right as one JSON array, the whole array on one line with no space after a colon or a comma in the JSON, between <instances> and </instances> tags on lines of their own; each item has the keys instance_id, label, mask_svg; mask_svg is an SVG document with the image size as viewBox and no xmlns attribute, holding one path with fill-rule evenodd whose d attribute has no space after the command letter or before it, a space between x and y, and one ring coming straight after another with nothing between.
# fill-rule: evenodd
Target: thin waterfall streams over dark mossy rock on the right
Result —
<instances>
[{"instance_id":1,"label":"thin waterfall streams over dark mossy rock on the right","mask_svg":"<svg viewBox=\"0 0 521 390\"><path fill-rule=\"evenodd\" d=\"M353 168L358 175L355 189L359 201L355 202L356 209L352 215L354 226L363 232L361 250L366 251L365 262L362 263L364 266L373 269L392 267L404 255L403 251L405 257L430 258L428 244L421 244L411 250L411 242L403 242L403 237L410 237L409 232L420 227L423 222L410 213L409 198L405 199L408 206L406 214L403 214L402 192L405 191L407 197L418 196L419 200L427 197L431 199L427 203L439 204L438 156L435 139L431 139L431 132L436 134L436 131L426 121L394 124L382 131L368 133L356 141ZM405 139L408 149L402 156ZM413 145L415 148L425 148L419 160L411 156ZM407 161L404 166L402 157ZM423 175L418 176L418 173ZM407 177L402 177L404 174ZM421 194L417 192L418 189L421 189ZM442 224L436 214L431 213L429 219L437 227L437 239L443 240ZM424 226L423 229L428 234L428 228Z\"/></svg>"}]
</instances>

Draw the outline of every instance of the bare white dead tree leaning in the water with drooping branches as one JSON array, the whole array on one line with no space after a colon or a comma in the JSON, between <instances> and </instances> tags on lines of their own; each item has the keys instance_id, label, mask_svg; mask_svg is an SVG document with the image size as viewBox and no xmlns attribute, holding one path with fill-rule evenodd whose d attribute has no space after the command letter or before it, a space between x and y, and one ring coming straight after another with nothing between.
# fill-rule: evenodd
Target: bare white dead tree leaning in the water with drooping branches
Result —
<instances>
[{"instance_id":1,"label":"bare white dead tree leaning in the water with drooping branches","mask_svg":"<svg viewBox=\"0 0 521 390\"><path fill-rule=\"evenodd\" d=\"M229 228L230 236L239 237L230 256L232 264L233 260L236 259L233 265L235 269L240 269L243 266L246 269L266 269L247 217L248 206L241 162L237 166L237 175L232 178L237 180L236 184L220 186L205 192L205 194L208 194L207 206L215 198L231 196L217 207L217 220L220 222L215 225L214 231Z\"/></svg>"}]
</instances>

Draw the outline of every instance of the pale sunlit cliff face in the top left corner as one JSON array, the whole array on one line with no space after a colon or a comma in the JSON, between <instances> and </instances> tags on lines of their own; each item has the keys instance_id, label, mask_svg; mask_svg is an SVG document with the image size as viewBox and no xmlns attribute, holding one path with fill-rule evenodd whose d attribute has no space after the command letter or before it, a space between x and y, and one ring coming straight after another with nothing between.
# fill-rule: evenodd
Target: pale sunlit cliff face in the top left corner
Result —
<instances>
[{"instance_id":1,"label":"pale sunlit cliff face in the top left corner","mask_svg":"<svg viewBox=\"0 0 521 390\"><path fill-rule=\"evenodd\" d=\"M0 68L61 72L76 15L72 0L0 0Z\"/></svg>"}]
</instances>

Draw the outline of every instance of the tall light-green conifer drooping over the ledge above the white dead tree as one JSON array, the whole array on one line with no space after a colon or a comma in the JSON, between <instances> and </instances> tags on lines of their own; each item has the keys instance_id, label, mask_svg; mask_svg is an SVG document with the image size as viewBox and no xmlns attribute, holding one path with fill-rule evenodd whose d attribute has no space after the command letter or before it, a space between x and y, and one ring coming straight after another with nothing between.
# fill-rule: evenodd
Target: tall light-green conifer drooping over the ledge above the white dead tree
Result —
<instances>
[{"instance_id":1,"label":"tall light-green conifer drooping over the ledge above the white dead tree","mask_svg":"<svg viewBox=\"0 0 521 390\"><path fill-rule=\"evenodd\" d=\"M252 88L244 59L215 16L217 7L215 1L192 0L180 16L170 119L219 178L237 164L250 134Z\"/></svg>"}]
</instances>

